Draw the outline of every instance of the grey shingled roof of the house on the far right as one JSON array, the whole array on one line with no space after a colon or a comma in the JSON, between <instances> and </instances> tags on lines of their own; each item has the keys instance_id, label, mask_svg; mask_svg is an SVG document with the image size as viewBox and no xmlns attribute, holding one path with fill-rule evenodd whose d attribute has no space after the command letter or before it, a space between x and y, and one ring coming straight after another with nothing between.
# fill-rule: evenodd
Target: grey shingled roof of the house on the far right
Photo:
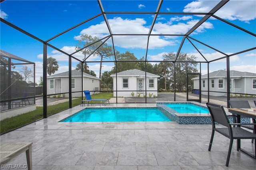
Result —
<instances>
[{"instance_id":1,"label":"grey shingled roof of the house on the far right","mask_svg":"<svg viewBox=\"0 0 256 170\"><path fill-rule=\"evenodd\" d=\"M214 71L212 73L209 73L209 77L210 78L227 77L227 71L226 70ZM230 70L230 77L256 77L256 73ZM196 79L199 79L199 76L195 77L192 80L196 80ZM207 79L207 74L202 75L201 79Z\"/></svg>"}]
</instances>

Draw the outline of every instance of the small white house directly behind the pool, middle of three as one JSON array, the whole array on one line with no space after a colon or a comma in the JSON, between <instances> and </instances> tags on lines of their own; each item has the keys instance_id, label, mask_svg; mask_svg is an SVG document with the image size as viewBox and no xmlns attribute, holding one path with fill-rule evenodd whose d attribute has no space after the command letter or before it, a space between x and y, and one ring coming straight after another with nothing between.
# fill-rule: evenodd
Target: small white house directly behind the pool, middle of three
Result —
<instances>
[{"instance_id":1,"label":"small white house directly behind the pool, middle of three","mask_svg":"<svg viewBox=\"0 0 256 170\"><path fill-rule=\"evenodd\" d=\"M113 90L116 90L116 74L110 76L113 77ZM157 96L157 77L160 76L146 72L145 81L145 71L131 69L119 72L117 73L117 96L132 97L131 93L134 92L134 97L139 93L141 94L140 97L143 97L146 89L147 97L148 93L153 93L153 95ZM114 92L114 97L116 97L116 92Z\"/></svg>"}]
</instances>

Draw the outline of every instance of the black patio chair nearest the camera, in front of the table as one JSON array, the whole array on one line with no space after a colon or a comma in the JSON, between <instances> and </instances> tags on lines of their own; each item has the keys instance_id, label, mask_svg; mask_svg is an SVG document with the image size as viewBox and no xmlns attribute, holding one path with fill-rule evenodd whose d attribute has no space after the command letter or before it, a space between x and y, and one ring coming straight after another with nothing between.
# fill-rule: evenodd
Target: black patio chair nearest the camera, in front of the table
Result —
<instances>
[{"instance_id":1,"label":"black patio chair nearest the camera, in front of the table","mask_svg":"<svg viewBox=\"0 0 256 170\"><path fill-rule=\"evenodd\" d=\"M214 137L214 132L219 132L220 134L226 136L230 139L229 148L228 148L228 156L226 160L226 166L229 164L230 154L232 150L232 144L234 139L256 139L256 134L249 132L248 130L245 130L241 127L232 127L231 125L242 125L241 123L229 123L228 116L226 115L226 112L224 111L223 106L215 105L212 103L206 103L211 119L212 119L212 135L210 139L210 144L208 147L208 151L211 151L212 148L212 140ZM233 115L231 115L233 116ZM223 125L224 128L216 128L215 123L219 123L220 125ZM248 125L248 123L246 123ZM254 125L256 125L254 123ZM256 142L254 142L254 153L256 156Z\"/></svg>"}]
</instances>

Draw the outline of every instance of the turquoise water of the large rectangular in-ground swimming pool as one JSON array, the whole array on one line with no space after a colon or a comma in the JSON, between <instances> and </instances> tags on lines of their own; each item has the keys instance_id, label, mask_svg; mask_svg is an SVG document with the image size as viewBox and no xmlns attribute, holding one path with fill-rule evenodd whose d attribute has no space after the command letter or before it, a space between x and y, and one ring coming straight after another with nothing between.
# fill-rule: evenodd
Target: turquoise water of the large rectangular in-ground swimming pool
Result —
<instances>
[{"instance_id":1,"label":"turquoise water of the large rectangular in-ground swimming pool","mask_svg":"<svg viewBox=\"0 0 256 170\"><path fill-rule=\"evenodd\" d=\"M148 122L170 121L156 108L84 109L61 122Z\"/></svg>"}]
</instances>

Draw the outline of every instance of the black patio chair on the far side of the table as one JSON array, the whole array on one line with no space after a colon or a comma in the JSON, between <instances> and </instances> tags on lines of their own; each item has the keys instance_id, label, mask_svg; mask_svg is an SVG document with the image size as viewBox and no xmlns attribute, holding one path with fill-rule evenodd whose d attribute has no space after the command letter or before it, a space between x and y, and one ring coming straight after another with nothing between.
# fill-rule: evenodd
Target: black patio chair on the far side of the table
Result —
<instances>
[{"instance_id":1,"label":"black patio chair on the far side of the table","mask_svg":"<svg viewBox=\"0 0 256 170\"><path fill-rule=\"evenodd\" d=\"M230 104L231 108L242 108L242 109L250 109L251 108L249 102L246 100L240 100L240 101L230 100L229 104ZM234 122L237 123L236 120L234 120ZM252 123L256 123L255 119L252 119ZM250 130L254 130L253 125L241 125L241 127L248 128ZM253 143L253 139L252 139L252 143Z\"/></svg>"}]
</instances>

